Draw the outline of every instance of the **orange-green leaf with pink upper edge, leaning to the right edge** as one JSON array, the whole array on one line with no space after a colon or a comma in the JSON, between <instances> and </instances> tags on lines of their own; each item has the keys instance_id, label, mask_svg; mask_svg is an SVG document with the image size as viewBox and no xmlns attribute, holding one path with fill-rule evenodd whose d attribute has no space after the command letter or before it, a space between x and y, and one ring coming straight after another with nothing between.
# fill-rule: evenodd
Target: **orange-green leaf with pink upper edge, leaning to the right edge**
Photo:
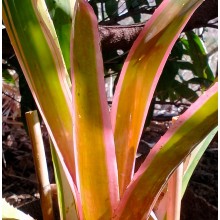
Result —
<instances>
[{"instance_id":1,"label":"orange-green leaf with pink upper edge, leaning to the right edge","mask_svg":"<svg viewBox=\"0 0 220 220\"><path fill-rule=\"evenodd\" d=\"M146 219L171 174L217 126L217 118L216 83L179 117L153 147L125 191L114 219Z\"/></svg>"}]
</instances>

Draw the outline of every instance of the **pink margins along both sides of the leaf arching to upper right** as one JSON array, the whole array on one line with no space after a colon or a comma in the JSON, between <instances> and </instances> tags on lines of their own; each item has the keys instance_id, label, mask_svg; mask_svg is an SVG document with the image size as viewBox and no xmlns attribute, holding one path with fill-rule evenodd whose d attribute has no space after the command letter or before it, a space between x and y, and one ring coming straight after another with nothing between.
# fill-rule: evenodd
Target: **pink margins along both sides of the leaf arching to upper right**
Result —
<instances>
[{"instance_id":1,"label":"pink margins along both sides of the leaf arching to upper right","mask_svg":"<svg viewBox=\"0 0 220 220\"><path fill-rule=\"evenodd\" d=\"M120 92L121 92L121 89L122 89L122 85L123 85L123 81L124 81L124 78L125 78L125 74L127 72L127 69L129 68L129 64L130 64L130 60L132 59L133 55L135 54L136 50L138 47L140 47L140 44L143 42L143 39L144 38L147 38L147 41L150 40L152 37L154 37L156 34L158 34L160 31L163 30L164 26L160 27L160 29L158 29L156 31L156 33L154 33L152 36L148 33L150 32L149 30L152 29L152 26L154 25L155 21L157 20L157 18L160 16L160 14L164 11L165 8L167 8L167 6L172 2L172 0L164 0L161 5L156 9L156 11L154 12L154 14L152 15L152 17L150 18L150 20L146 23L144 29L141 31L140 35L138 36L138 38L136 39L136 41L134 42L126 60L125 60L125 64L122 68L122 71L121 71L121 75L119 77L119 81L118 81L118 84L116 86L116 91L115 91L115 94L114 94L114 97L113 97L113 103L112 103L112 109L111 109L111 122L112 122L112 127L113 127L113 132L115 131L115 127L116 127L116 116L117 116L117 110L118 110L118 103L119 103L119 98L120 98ZM187 2L188 4L188 7L185 9L187 11L187 9L191 8L192 7L192 10L190 10L190 12L187 12L187 18L184 17L183 18L183 22L182 22L182 25L181 25L181 28L177 31L177 33L175 34L173 40L171 41L171 43L169 44L162 60L161 60L161 63L158 67L158 70L157 70L157 73L154 77L154 80L152 82L152 85L151 85L151 89L150 89L150 93L149 93L149 96L148 96L148 100L146 101L146 106L145 106L145 109L144 109L144 114L143 114L143 117L142 117L142 122L141 122L141 126L140 126L140 131L139 131L139 137L138 137L138 140L140 140L140 137L141 137L141 131L144 127L144 123L145 123L145 119L146 119L146 116L148 114L148 110L149 110L149 107L150 107L150 103L151 103L151 100L152 100L152 97L153 97L153 94L154 94L154 91L156 89L156 86L157 86L157 83L159 81L159 78L161 76L161 73L163 71L163 67L167 61L167 58L173 48L173 45L175 44L176 40L178 39L180 33L182 32L183 28L185 27L186 23L188 22L188 20L190 19L191 15L194 13L194 11L197 9L197 7L202 3L201 0L197 0L197 1L192 1L192 2ZM181 3L180 3L181 4ZM181 11L181 13L184 15L184 12L185 11ZM149 35L146 36L146 33L148 33ZM146 41L146 39L145 39ZM135 160L133 161L133 168L132 168L132 171L131 171L131 177L133 177L133 174L134 174L134 166L135 166Z\"/></svg>"}]
</instances>

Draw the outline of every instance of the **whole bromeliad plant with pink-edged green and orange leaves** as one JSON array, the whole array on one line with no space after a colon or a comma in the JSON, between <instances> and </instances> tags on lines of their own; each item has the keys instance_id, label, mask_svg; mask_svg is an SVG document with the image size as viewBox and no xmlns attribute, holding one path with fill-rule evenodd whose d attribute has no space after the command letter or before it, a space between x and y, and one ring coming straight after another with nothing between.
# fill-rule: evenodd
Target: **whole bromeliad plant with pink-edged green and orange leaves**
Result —
<instances>
[{"instance_id":1,"label":"whole bromeliad plant with pink-edged green and orange leaves","mask_svg":"<svg viewBox=\"0 0 220 220\"><path fill-rule=\"evenodd\" d=\"M90 5L3 0L4 24L51 137L61 219L147 219L155 204L158 219L174 219L167 205L161 208L161 192L187 155L197 149L192 158L198 157L216 133L217 83L179 117L135 174L134 165L163 66L201 3L163 1L127 56L109 112ZM192 161L180 175L182 194Z\"/></svg>"}]
</instances>

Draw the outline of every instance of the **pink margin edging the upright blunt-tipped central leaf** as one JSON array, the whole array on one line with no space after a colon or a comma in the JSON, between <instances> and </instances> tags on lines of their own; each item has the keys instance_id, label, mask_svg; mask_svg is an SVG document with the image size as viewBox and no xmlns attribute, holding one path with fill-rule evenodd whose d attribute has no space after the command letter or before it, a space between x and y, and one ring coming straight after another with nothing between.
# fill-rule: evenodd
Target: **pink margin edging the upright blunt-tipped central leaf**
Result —
<instances>
[{"instance_id":1,"label":"pink margin edging the upright blunt-tipped central leaf","mask_svg":"<svg viewBox=\"0 0 220 220\"><path fill-rule=\"evenodd\" d=\"M102 115L102 122L103 122L103 127L104 127L103 140L106 146L105 147L105 155L106 155L105 160L107 164L108 176L110 177L110 182L109 182L110 201L114 209L119 201L117 163L116 163L116 155L115 155L114 136L113 136L110 113L108 110L107 98L106 98L106 93L105 93L104 66L103 66L103 59L102 59L102 54L100 50L100 35L98 32L98 21L97 21L96 15L94 14L94 10L91 7L91 5L88 3L88 1L78 0L78 4L81 4L81 7L84 7L85 11L87 11L87 13L90 15L94 39L95 39L94 46L95 46L95 51L97 51L96 67L97 67L98 93L99 93L99 99L100 99L100 104L101 104L100 109L101 109L101 115ZM73 31L71 33L71 39L73 39ZM73 40L71 40L70 47L73 48ZM75 91L73 53L71 53L70 59L71 59L71 69L72 69L71 75L72 75L72 82L73 82L72 83L72 94L73 94ZM74 95L72 95L72 97L74 100ZM77 155L77 152L76 152L77 149L76 147L74 148L75 148L75 155ZM76 160L76 170L78 170L76 157L75 157L75 160ZM79 186L80 185L79 176L77 174L76 174L76 182L78 182L77 186Z\"/></svg>"}]
</instances>

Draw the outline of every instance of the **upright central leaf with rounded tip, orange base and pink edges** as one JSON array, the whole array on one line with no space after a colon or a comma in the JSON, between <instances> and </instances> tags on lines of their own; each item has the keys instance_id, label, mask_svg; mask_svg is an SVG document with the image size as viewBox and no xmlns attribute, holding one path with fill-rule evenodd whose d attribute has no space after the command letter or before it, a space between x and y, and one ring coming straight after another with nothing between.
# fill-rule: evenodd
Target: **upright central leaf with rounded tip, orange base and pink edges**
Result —
<instances>
[{"instance_id":1,"label":"upright central leaf with rounded tip, orange base and pink edges","mask_svg":"<svg viewBox=\"0 0 220 220\"><path fill-rule=\"evenodd\" d=\"M97 20L78 2L71 37L74 147L85 219L110 219L118 201L113 132L104 86Z\"/></svg>"}]
</instances>

